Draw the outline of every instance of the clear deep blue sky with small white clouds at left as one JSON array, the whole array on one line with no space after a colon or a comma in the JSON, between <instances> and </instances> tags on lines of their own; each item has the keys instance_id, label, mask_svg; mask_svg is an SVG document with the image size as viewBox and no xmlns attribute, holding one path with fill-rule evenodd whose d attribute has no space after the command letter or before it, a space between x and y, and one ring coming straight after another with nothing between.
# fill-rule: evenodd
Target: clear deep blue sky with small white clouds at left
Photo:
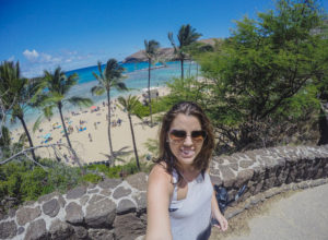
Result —
<instances>
[{"instance_id":1,"label":"clear deep blue sky with small white clouds at left","mask_svg":"<svg viewBox=\"0 0 328 240\"><path fill-rule=\"evenodd\" d=\"M321 0L328 9L328 1ZM124 60L144 39L171 47L190 24L206 38L224 38L243 16L273 9L272 0L0 0L0 61L19 61L37 76L57 67L73 70Z\"/></svg>"}]
</instances>

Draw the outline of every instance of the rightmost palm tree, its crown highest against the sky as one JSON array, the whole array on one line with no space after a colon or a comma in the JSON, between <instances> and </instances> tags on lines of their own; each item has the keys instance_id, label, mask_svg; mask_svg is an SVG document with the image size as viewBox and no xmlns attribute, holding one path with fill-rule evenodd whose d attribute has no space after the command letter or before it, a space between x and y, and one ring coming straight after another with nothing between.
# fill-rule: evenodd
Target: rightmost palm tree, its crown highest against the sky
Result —
<instances>
[{"instance_id":1,"label":"rightmost palm tree, its crown highest against the sky","mask_svg":"<svg viewBox=\"0 0 328 240\"><path fill-rule=\"evenodd\" d=\"M190 24L183 25L177 35L177 38L179 40L179 46L177 47L173 39L173 33L168 33L168 39L174 48L174 52L181 62L181 79L184 79L184 61L187 57L184 51L184 48L195 43L201 36L201 34L196 33L196 29L191 27Z\"/></svg>"}]
</instances>

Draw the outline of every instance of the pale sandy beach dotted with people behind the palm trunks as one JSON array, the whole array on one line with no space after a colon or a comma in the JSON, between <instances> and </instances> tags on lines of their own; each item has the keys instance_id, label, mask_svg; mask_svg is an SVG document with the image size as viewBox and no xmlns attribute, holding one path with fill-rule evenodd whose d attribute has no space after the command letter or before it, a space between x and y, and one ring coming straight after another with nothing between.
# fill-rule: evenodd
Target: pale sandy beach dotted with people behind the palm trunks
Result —
<instances>
[{"instance_id":1,"label":"pale sandy beach dotted with people behind the palm trunks","mask_svg":"<svg viewBox=\"0 0 328 240\"><path fill-rule=\"evenodd\" d=\"M166 87L159 88L159 96L164 96L167 93L168 89ZM141 94L138 94L138 96L141 100ZM128 115L118 107L119 104L116 98L113 98L112 103L113 111L110 121L113 123L115 122L110 129L113 148L114 152L118 152L120 149L124 149L124 152L130 152L129 155L121 157L127 163L132 157L134 157ZM108 110L106 101L104 101L97 103L92 107L82 108L79 111L72 110L70 112L66 111L63 113L63 117L66 118L67 129L70 128L71 130L69 136L72 146L84 164L108 159L106 156L109 155L106 120L107 111ZM67 139L65 137L60 116L57 112L58 110L55 109L54 113L56 115L51 118L51 120L48 121L47 119L45 119L40 123L39 130L35 131L34 133L32 131L34 122L28 124L28 130L35 146L51 143L67 144ZM159 124L150 128L136 116L132 116L132 123L140 160L145 160L145 157L142 156L149 154L149 152L144 146L144 143L150 139L157 139ZM17 141L22 132L23 128L14 132L14 142ZM39 148L36 151L36 155L42 157L56 158L56 155L51 148ZM65 147L61 147L61 149L59 149L59 157L63 161L67 161L68 164L73 163L73 160L69 156L70 154L65 149Z\"/></svg>"}]
</instances>

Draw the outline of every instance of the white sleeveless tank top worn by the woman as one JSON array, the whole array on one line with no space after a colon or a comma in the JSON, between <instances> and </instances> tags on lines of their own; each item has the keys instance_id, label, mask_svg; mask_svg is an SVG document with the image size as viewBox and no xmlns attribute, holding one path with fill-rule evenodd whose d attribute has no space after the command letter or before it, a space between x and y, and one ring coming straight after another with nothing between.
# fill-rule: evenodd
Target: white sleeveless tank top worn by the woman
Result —
<instances>
[{"instance_id":1,"label":"white sleeveless tank top worn by the woman","mask_svg":"<svg viewBox=\"0 0 328 240\"><path fill-rule=\"evenodd\" d=\"M213 187L210 176L201 173L188 182L186 199L177 201L178 175L173 170L174 192L169 204L173 240L203 240L211 233L211 200Z\"/></svg>"}]
</instances>

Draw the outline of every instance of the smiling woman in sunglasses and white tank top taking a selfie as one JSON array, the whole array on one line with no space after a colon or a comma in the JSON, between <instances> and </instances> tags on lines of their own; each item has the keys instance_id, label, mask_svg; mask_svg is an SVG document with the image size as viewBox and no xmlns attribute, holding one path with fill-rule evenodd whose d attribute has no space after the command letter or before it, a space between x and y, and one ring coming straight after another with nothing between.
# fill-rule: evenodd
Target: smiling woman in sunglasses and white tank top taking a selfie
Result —
<instances>
[{"instance_id":1,"label":"smiling woman in sunglasses and white tank top taking a selfie","mask_svg":"<svg viewBox=\"0 0 328 240\"><path fill-rule=\"evenodd\" d=\"M209 177L213 147L212 127L197 104L179 103L164 116L148 181L147 240L208 239L212 218L227 229Z\"/></svg>"}]
</instances>

